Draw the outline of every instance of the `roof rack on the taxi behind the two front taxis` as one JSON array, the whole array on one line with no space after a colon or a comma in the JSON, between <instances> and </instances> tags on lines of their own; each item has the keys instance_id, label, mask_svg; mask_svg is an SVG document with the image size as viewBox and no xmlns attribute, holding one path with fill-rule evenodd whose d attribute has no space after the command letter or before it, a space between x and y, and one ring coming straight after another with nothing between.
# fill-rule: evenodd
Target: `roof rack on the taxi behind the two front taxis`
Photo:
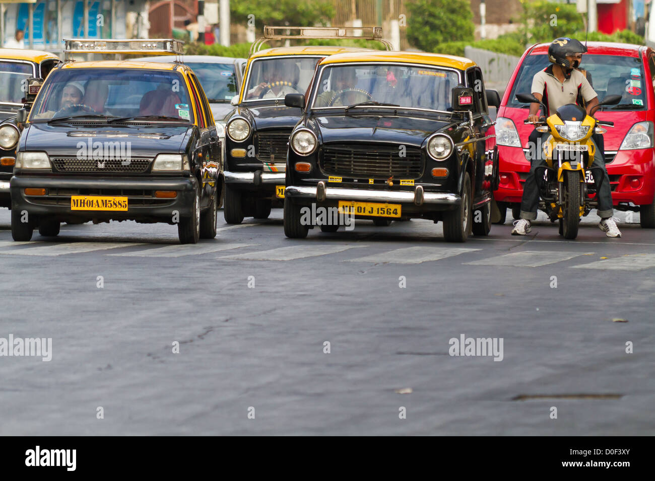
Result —
<instances>
[{"instance_id":1,"label":"roof rack on the taxi behind the two front taxis","mask_svg":"<svg viewBox=\"0 0 655 481\"><path fill-rule=\"evenodd\" d=\"M297 33L291 33L296 31ZM356 35L358 33L359 35ZM382 38L382 27L264 27L264 36L259 37L250 46L248 56L259 52L267 40L307 40L307 39L362 39L380 42L386 50L394 47Z\"/></svg>"}]
</instances>

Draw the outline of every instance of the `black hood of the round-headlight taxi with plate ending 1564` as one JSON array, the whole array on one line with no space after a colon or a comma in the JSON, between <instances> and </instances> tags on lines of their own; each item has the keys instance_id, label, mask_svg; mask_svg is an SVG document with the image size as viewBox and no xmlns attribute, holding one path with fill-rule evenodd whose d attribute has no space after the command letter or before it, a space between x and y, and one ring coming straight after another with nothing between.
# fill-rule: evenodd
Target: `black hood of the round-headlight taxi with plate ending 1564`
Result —
<instances>
[{"instance_id":1,"label":"black hood of the round-headlight taxi with plate ending 1564","mask_svg":"<svg viewBox=\"0 0 655 481\"><path fill-rule=\"evenodd\" d=\"M451 122L386 115L324 116L313 120L324 143L384 142L421 147L423 141Z\"/></svg>"}]
</instances>

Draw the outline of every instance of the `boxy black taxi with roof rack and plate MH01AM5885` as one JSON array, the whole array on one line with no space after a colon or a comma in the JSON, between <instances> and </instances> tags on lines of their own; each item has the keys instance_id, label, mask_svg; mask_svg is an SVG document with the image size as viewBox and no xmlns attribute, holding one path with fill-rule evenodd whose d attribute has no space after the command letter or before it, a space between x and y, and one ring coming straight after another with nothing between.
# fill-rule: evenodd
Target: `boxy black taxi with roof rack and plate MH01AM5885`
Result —
<instances>
[{"instance_id":1,"label":"boxy black taxi with roof rack and plate MH01AM5885","mask_svg":"<svg viewBox=\"0 0 655 481\"><path fill-rule=\"evenodd\" d=\"M177 224L181 243L214 238L221 145L200 82L183 63L74 56L170 54L175 40L64 40L18 142L10 181L14 240L62 222ZM26 116L19 111L19 121Z\"/></svg>"}]
</instances>

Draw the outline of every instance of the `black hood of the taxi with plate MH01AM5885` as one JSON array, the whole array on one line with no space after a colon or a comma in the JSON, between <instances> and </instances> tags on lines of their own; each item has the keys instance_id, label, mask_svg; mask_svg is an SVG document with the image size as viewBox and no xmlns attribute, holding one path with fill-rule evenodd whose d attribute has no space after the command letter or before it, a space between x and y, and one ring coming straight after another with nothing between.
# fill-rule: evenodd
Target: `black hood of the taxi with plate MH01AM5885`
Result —
<instances>
[{"instance_id":1,"label":"black hood of the taxi with plate MH01AM5885","mask_svg":"<svg viewBox=\"0 0 655 481\"><path fill-rule=\"evenodd\" d=\"M21 151L44 151L49 155L75 155L79 149L97 149L96 143L119 142L129 146L132 156L150 157L160 152L183 152L183 143L193 126L107 126L92 124L29 124L20 141ZM124 144L120 144L124 142ZM117 145L117 144L113 144ZM83 147L84 146L84 147Z\"/></svg>"}]
</instances>

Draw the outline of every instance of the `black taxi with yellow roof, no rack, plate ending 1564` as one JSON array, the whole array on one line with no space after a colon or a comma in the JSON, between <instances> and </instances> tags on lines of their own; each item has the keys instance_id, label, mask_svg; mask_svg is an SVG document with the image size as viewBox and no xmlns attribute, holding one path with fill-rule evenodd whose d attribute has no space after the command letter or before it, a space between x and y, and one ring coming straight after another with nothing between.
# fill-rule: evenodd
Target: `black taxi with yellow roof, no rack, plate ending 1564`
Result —
<instances>
[{"instance_id":1,"label":"black taxi with yellow roof, no rack, plate ending 1564","mask_svg":"<svg viewBox=\"0 0 655 481\"><path fill-rule=\"evenodd\" d=\"M481 69L466 58L415 52L322 60L289 143L284 233L307 236L303 207L334 207L377 224L443 222L447 241L487 235L498 182L493 122ZM321 225L337 230L338 225Z\"/></svg>"}]
</instances>

